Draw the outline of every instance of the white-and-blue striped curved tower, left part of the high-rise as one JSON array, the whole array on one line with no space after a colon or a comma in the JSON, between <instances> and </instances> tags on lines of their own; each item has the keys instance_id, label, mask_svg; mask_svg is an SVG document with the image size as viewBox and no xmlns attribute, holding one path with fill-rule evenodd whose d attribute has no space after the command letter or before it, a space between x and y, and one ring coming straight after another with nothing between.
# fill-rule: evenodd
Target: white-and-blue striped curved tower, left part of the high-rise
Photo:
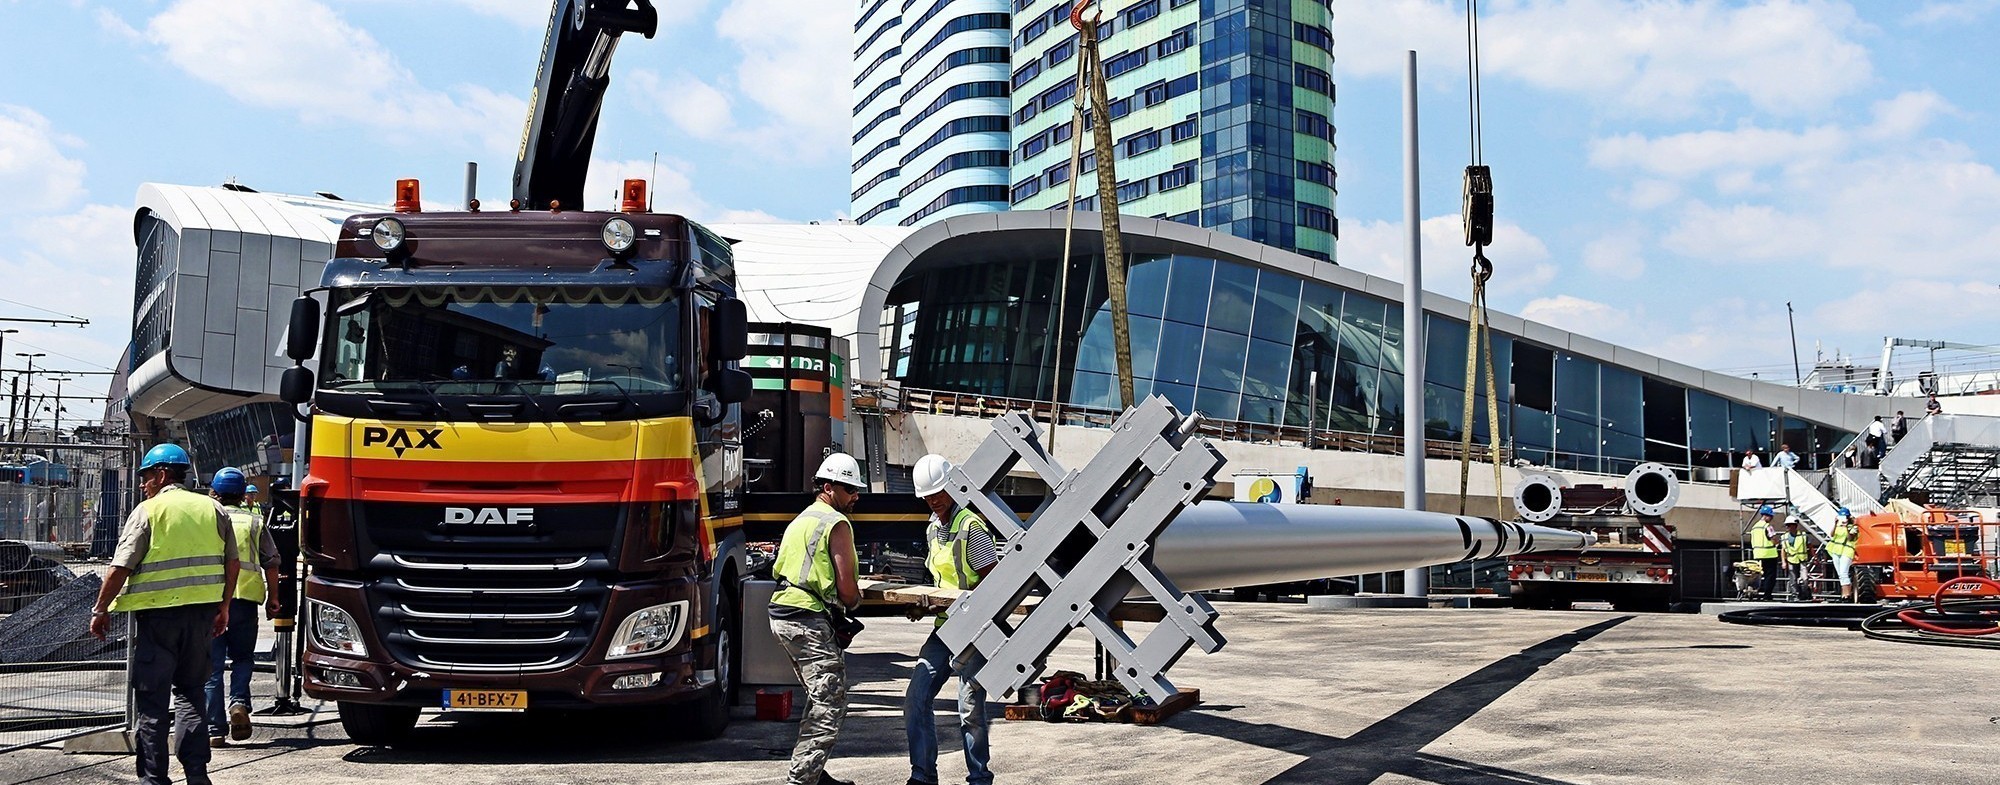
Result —
<instances>
[{"instance_id":1,"label":"white-and-blue striped curved tower, left part of the high-rise","mask_svg":"<svg viewBox=\"0 0 2000 785\"><path fill-rule=\"evenodd\" d=\"M1010 0L862 0L854 218L914 226L1006 210Z\"/></svg>"}]
</instances>

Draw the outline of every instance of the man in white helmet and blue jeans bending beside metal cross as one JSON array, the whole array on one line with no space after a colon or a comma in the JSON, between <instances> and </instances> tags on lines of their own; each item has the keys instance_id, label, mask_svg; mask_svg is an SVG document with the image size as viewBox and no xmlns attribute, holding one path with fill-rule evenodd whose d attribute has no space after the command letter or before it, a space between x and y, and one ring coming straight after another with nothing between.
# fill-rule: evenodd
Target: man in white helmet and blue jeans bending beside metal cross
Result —
<instances>
[{"instance_id":1,"label":"man in white helmet and blue jeans bending beside metal cross","mask_svg":"<svg viewBox=\"0 0 2000 785\"><path fill-rule=\"evenodd\" d=\"M1000 563L1000 553L986 521L958 507L944 491L950 473L952 463L942 455L926 455L912 469L916 497L930 507L930 527L924 531L930 553L924 565L938 587L970 591ZM944 615L938 615L936 627L944 627ZM978 651L966 653L966 673L978 673L980 665L984 661ZM930 705L954 671L952 649L932 631L916 655L910 687L902 695L902 723L910 737L910 785L938 785L938 717ZM986 767L992 761L986 743L986 691L966 673L958 673L958 735L966 751L966 783L988 785L994 773Z\"/></svg>"}]
</instances>

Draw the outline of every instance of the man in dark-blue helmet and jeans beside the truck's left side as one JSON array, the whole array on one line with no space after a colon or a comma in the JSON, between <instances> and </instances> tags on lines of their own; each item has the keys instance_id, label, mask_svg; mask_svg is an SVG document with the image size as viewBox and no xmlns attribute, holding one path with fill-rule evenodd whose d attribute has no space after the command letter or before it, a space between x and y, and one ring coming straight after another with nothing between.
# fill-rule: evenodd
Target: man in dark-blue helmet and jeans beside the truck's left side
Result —
<instances>
[{"instance_id":1,"label":"man in dark-blue helmet and jeans beside the truck's left side","mask_svg":"<svg viewBox=\"0 0 2000 785\"><path fill-rule=\"evenodd\" d=\"M230 513L230 531L236 539L240 559L256 559L258 567L236 575L236 595L230 599L230 629L210 641L208 647L208 745L224 747L230 741L250 737L250 673L256 667L256 609L278 615L278 595L268 587L278 585L278 543L270 539L264 517L256 513L244 495L244 473L230 469L216 471L208 483L208 495ZM222 691L222 671L228 669L228 701ZM224 705L228 715L224 717ZM224 733L228 733L224 737Z\"/></svg>"}]
</instances>

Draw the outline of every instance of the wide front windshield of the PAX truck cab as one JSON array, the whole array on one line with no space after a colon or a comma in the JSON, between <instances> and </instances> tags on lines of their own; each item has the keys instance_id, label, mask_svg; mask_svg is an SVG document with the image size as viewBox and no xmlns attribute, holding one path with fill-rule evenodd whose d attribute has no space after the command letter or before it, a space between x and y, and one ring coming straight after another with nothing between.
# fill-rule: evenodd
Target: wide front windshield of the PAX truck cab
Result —
<instances>
[{"instance_id":1,"label":"wide front windshield of the PAX truck cab","mask_svg":"<svg viewBox=\"0 0 2000 785\"><path fill-rule=\"evenodd\" d=\"M672 290L426 286L336 290L328 390L432 395L682 390Z\"/></svg>"}]
</instances>

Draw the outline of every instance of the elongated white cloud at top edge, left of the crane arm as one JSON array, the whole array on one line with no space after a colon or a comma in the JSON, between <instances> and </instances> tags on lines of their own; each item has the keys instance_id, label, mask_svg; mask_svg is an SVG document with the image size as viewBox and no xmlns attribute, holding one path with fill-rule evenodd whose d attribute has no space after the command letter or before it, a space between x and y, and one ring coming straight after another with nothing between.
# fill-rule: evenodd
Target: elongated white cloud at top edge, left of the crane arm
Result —
<instances>
[{"instance_id":1,"label":"elongated white cloud at top edge, left of the crane arm","mask_svg":"<svg viewBox=\"0 0 2000 785\"><path fill-rule=\"evenodd\" d=\"M314 0L180 0L146 22L146 38L190 76L304 122L508 152L520 140L520 98L482 86L426 88L374 36Z\"/></svg>"}]
</instances>

